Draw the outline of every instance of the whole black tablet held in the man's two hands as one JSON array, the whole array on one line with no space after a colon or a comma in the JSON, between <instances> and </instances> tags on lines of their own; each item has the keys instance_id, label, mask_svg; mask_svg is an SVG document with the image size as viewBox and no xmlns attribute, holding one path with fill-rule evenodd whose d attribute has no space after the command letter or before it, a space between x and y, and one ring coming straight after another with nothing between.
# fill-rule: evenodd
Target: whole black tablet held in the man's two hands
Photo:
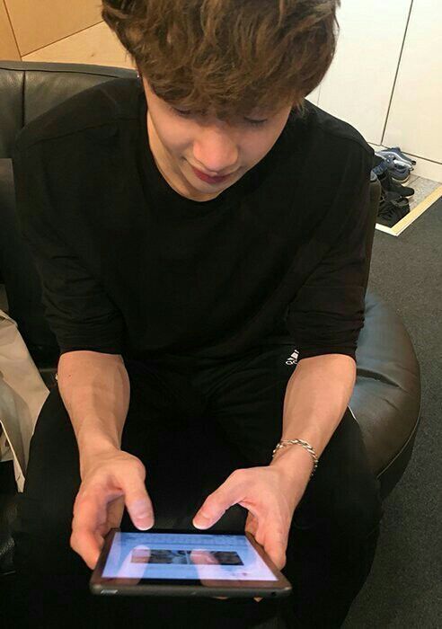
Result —
<instances>
[{"instance_id":1,"label":"whole black tablet held in the man's two hands","mask_svg":"<svg viewBox=\"0 0 442 629\"><path fill-rule=\"evenodd\" d=\"M110 529L93 594L281 597L290 583L249 533Z\"/></svg>"}]
</instances>

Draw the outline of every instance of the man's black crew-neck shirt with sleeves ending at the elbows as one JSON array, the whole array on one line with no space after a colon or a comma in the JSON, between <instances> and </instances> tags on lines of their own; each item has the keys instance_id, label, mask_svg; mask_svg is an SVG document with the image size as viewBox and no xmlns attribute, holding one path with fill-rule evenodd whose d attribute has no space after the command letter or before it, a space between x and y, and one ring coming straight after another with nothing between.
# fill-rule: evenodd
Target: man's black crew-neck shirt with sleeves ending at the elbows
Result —
<instances>
[{"instance_id":1,"label":"man's black crew-neck shirt with sleeves ending at the elbows","mask_svg":"<svg viewBox=\"0 0 442 629\"><path fill-rule=\"evenodd\" d=\"M158 171L135 78L93 86L22 128L17 210L61 353L222 358L277 333L299 359L355 359L374 151L306 105L259 164L204 202Z\"/></svg>"}]
</instances>

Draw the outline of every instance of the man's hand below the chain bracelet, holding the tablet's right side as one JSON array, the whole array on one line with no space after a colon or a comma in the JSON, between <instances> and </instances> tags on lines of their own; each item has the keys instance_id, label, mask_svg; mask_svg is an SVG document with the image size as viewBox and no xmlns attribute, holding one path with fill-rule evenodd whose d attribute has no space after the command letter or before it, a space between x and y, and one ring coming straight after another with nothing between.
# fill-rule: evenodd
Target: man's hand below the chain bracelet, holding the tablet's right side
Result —
<instances>
[{"instance_id":1,"label":"man's hand below the chain bracelet, holding the tablet's right side","mask_svg":"<svg viewBox=\"0 0 442 629\"><path fill-rule=\"evenodd\" d=\"M239 504L249 511L245 531L252 533L281 570L286 565L293 513L312 472L311 459L300 452L303 448L289 449L293 452L290 456L285 453L284 465L281 455L271 465L239 469L230 474L204 501L193 518L193 526L212 527L226 509Z\"/></svg>"}]
</instances>

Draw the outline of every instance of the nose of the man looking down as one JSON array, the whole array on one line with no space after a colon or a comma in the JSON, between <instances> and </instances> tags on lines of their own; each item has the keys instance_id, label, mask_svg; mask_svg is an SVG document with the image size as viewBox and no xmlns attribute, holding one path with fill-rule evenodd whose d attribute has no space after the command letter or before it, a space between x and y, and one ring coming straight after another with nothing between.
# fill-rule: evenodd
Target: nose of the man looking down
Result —
<instances>
[{"instance_id":1,"label":"nose of the man looking down","mask_svg":"<svg viewBox=\"0 0 442 629\"><path fill-rule=\"evenodd\" d=\"M220 128L206 128L193 144L194 165L212 176L237 169L238 148L233 137Z\"/></svg>"}]
</instances>

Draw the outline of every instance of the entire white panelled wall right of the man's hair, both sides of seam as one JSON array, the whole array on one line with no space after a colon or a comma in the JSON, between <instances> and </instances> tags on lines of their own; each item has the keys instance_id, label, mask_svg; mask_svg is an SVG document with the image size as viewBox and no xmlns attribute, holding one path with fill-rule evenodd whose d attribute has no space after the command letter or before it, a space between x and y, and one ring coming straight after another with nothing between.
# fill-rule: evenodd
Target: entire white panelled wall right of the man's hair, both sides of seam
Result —
<instances>
[{"instance_id":1,"label":"entire white panelled wall right of the man's hair, both sides of seam","mask_svg":"<svg viewBox=\"0 0 442 629\"><path fill-rule=\"evenodd\" d=\"M442 0L342 0L338 22L336 56L309 100L442 182Z\"/></svg>"}]
</instances>

